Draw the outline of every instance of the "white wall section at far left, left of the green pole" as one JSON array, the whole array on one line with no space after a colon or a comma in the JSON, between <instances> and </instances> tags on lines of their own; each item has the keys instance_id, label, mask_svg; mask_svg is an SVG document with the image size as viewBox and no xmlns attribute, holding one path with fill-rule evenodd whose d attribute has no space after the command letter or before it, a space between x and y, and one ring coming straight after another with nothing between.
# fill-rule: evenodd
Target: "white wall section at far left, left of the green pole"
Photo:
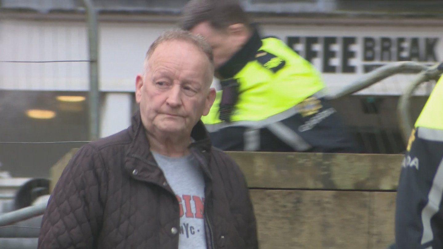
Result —
<instances>
[{"instance_id":1,"label":"white wall section at far left, left of the green pole","mask_svg":"<svg viewBox=\"0 0 443 249\"><path fill-rule=\"evenodd\" d=\"M0 20L1 61L87 60L84 23ZM0 89L84 90L87 62L2 63Z\"/></svg>"}]
</instances>

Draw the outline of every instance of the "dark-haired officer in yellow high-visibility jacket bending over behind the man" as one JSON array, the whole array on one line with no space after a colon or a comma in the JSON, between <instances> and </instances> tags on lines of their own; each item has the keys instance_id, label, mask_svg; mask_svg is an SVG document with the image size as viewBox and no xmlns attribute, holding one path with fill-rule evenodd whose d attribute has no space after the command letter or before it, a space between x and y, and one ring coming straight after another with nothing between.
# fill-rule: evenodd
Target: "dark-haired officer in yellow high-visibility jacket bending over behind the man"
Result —
<instances>
[{"instance_id":1,"label":"dark-haired officer in yellow high-visibility jacket bending over behind the man","mask_svg":"<svg viewBox=\"0 0 443 249\"><path fill-rule=\"evenodd\" d=\"M202 117L213 144L233 151L356 152L324 99L320 74L280 39L261 39L235 0L191 0L181 26L214 51L221 91Z\"/></svg>"}]
</instances>

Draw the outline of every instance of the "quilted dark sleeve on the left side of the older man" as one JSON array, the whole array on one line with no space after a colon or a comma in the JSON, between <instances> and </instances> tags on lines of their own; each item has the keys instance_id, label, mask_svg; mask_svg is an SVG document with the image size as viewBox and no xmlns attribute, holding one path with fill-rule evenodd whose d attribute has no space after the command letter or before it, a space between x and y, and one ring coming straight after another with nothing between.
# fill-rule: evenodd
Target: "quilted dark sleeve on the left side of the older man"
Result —
<instances>
[{"instance_id":1,"label":"quilted dark sleeve on the left side of the older man","mask_svg":"<svg viewBox=\"0 0 443 249\"><path fill-rule=\"evenodd\" d=\"M95 248L107 183L103 160L82 147L63 171L43 215L39 249Z\"/></svg>"}]
</instances>

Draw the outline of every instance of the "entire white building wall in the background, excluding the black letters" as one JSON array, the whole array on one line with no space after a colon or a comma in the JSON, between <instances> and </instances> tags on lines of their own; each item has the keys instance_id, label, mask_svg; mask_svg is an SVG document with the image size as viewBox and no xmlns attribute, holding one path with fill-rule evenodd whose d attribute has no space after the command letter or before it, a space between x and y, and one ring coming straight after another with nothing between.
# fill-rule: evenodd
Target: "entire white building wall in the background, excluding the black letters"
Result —
<instances>
[{"instance_id":1,"label":"entire white building wall in the background, excluding the black letters","mask_svg":"<svg viewBox=\"0 0 443 249\"><path fill-rule=\"evenodd\" d=\"M152 41L164 30L174 27L172 23L102 22L100 28L100 89L102 91L125 92L134 90L136 74L142 69L144 54ZM324 37L334 37L337 43L330 46L335 54L329 60L338 73L323 72L329 89L334 92L358 79L364 65L384 64L380 59L371 62L363 60L363 38L376 40L376 54L380 54L381 37L392 39L389 52L397 51L397 38L404 38L400 47L402 56L408 56L411 38L420 43L419 53L424 53L425 39L438 39L433 48L437 60L443 59L443 42L440 39L443 27L399 27L380 25L277 25L262 26L263 35L276 35L286 41L288 36L300 38L294 48L301 55L306 52L306 37L317 37L319 43L311 46L317 58L313 64L323 71L325 50ZM353 73L340 73L342 63L342 37L354 37L355 44L348 48L348 63L354 66ZM0 60L76 60L88 59L86 26L81 21L36 21L0 19ZM395 61L396 58L393 58ZM424 62L433 64L435 62ZM364 90L366 94L400 94L414 75L402 74ZM428 87L429 88L429 87ZM32 90L87 90L87 62L60 63L1 63L0 89ZM427 92L426 87L423 91Z\"/></svg>"}]
</instances>

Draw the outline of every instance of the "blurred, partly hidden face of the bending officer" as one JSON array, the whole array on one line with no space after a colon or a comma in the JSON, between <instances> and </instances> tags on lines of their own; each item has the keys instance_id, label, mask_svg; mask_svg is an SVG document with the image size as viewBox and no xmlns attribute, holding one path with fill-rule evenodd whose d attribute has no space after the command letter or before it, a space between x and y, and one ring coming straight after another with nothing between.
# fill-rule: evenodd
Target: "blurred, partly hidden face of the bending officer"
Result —
<instances>
[{"instance_id":1,"label":"blurred, partly hidden face of the bending officer","mask_svg":"<svg viewBox=\"0 0 443 249\"><path fill-rule=\"evenodd\" d=\"M199 23L190 32L195 35L202 35L211 45L216 69L239 51L247 40L247 35L243 31L238 32L230 27L225 30L214 29L209 22Z\"/></svg>"}]
</instances>

